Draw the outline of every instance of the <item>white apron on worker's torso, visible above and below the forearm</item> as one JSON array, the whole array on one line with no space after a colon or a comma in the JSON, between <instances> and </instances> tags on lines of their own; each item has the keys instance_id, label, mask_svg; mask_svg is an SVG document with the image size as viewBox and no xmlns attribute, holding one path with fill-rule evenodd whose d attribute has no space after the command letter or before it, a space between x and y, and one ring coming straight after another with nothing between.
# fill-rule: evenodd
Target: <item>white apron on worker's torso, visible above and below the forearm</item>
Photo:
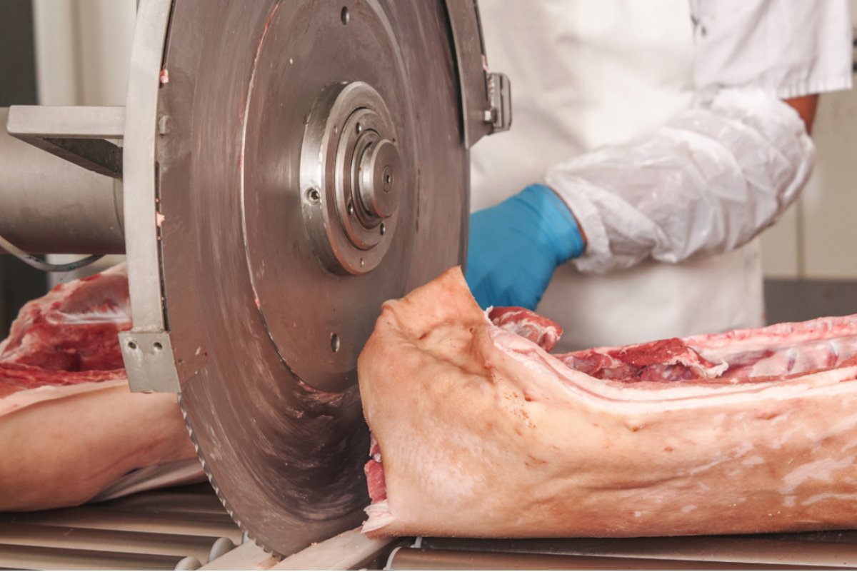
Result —
<instances>
[{"instance_id":1,"label":"white apron on worker's torso, visible above and below the forearm","mask_svg":"<svg viewBox=\"0 0 857 572\"><path fill-rule=\"evenodd\" d=\"M691 104L687 0L482 0L479 8L490 68L512 80L512 130L473 149L473 211ZM763 325L758 241L604 276L562 265L537 310L565 329L559 350Z\"/></svg>"}]
</instances>

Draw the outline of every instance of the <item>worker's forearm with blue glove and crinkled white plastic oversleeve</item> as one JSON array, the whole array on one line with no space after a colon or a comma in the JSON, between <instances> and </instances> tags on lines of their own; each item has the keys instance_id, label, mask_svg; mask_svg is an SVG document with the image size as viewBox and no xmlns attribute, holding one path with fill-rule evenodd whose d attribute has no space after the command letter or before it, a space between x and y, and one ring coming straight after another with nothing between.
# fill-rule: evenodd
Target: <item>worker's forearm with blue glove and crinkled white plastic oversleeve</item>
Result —
<instances>
[{"instance_id":1,"label":"worker's forearm with blue glove and crinkled white plastic oversleeve","mask_svg":"<svg viewBox=\"0 0 857 572\"><path fill-rule=\"evenodd\" d=\"M553 188L531 185L474 213L466 277L476 301L535 309L556 266L582 254L578 268L606 271L740 246L806 182L817 100L726 94L560 165L548 174ZM596 241L589 253L584 229Z\"/></svg>"}]
</instances>

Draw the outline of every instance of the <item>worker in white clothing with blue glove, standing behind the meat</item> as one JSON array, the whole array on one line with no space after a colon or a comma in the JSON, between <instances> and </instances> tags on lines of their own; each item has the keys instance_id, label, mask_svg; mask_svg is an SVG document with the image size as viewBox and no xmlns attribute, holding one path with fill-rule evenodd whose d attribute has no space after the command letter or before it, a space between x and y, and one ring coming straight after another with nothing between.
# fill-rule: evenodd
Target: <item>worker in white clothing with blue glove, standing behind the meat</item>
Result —
<instances>
[{"instance_id":1,"label":"worker in white clothing with blue glove, standing behind the meat","mask_svg":"<svg viewBox=\"0 0 857 572\"><path fill-rule=\"evenodd\" d=\"M537 306L565 350L763 325L752 239L812 170L817 94L851 86L848 0L480 11L514 117L472 155L476 300Z\"/></svg>"}]
</instances>

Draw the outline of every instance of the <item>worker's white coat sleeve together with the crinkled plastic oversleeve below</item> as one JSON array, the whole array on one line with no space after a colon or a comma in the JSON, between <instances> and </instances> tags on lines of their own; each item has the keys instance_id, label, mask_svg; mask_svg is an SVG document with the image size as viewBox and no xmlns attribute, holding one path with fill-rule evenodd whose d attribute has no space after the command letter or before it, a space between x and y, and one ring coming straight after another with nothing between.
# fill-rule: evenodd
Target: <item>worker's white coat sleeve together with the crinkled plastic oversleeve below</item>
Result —
<instances>
[{"instance_id":1,"label":"worker's white coat sleeve together with the crinkled plastic oversleeve below","mask_svg":"<svg viewBox=\"0 0 857 572\"><path fill-rule=\"evenodd\" d=\"M797 9L804 2L819 14ZM850 86L846 0L692 5L699 42L693 107L651 134L548 171L548 185L586 234L586 251L574 261L580 271L619 270L648 257L679 262L751 240L794 201L812 170L812 140L781 98ZM848 23L846 33L835 14ZM806 41L804 24L812 36ZM773 43L772 30L795 37ZM790 41L802 47L783 47ZM812 57L798 57L813 45Z\"/></svg>"}]
</instances>

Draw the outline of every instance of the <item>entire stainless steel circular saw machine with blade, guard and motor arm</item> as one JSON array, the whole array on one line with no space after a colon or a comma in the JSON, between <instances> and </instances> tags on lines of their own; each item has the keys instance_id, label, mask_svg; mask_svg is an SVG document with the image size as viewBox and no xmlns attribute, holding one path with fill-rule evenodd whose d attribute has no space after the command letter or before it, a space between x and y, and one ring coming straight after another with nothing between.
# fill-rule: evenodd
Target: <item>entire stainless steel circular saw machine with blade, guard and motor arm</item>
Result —
<instances>
[{"instance_id":1,"label":"entire stainless steel circular saw machine with blade, guard and motor arm","mask_svg":"<svg viewBox=\"0 0 857 572\"><path fill-rule=\"evenodd\" d=\"M141 0L124 107L3 110L0 244L127 254L132 389L178 392L229 514L289 555L363 519L357 355L462 262L509 93L475 0Z\"/></svg>"}]
</instances>

